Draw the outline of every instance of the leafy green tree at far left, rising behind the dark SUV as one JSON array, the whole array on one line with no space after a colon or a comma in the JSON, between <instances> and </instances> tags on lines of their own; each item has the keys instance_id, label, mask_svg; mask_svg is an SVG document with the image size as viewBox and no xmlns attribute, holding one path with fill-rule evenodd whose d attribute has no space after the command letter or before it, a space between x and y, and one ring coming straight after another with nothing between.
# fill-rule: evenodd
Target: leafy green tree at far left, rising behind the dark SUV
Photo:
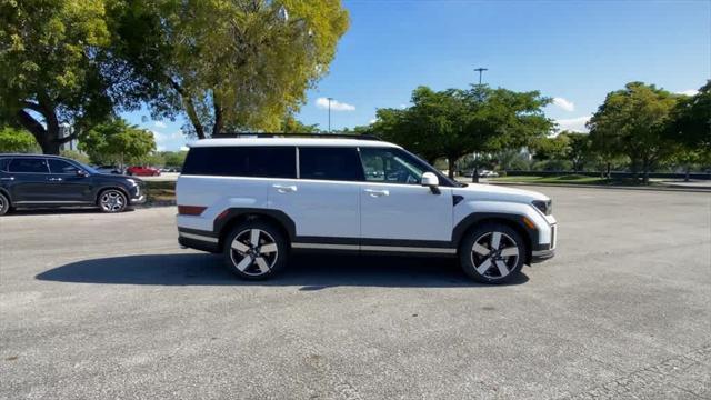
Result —
<instances>
[{"instance_id":1,"label":"leafy green tree at far left, rising behind the dark SUV","mask_svg":"<svg viewBox=\"0 0 711 400\"><path fill-rule=\"evenodd\" d=\"M28 130L44 153L128 106L102 0L0 1L0 122ZM136 102L133 102L134 104ZM68 123L73 133L61 137Z\"/></svg>"}]
</instances>

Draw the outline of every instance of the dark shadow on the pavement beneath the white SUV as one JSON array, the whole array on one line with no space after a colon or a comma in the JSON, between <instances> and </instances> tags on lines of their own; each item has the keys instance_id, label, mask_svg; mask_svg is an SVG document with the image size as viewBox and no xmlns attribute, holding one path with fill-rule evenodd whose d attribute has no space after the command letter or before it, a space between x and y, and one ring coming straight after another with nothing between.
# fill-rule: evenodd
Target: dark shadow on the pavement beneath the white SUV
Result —
<instances>
[{"instance_id":1,"label":"dark shadow on the pavement beneath the white SUV","mask_svg":"<svg viewBox=\"0 0 711 400\"><path fill-rule=\"evenodd\" d=\"M37 279L57 282L158 286L300 286L321 290L362 287L495 287L470 280L453 259L370 256L294 256L277 277L246 281L233 276L222 257L204 253L142 254L83 260L44 271ZM520 273L508 284L529 279Z\"/></svg>"}]
</instances>

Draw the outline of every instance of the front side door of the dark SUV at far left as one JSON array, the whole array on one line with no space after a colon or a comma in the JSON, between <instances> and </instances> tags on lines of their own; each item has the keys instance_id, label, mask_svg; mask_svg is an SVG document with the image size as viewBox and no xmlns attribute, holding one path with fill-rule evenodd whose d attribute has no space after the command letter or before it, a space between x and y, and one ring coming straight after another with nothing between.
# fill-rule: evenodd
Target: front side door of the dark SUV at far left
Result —
<instances>
[{"instance_id":1,"label":"front side door of the dark SUV at far left","mask_svg":"<svg viewBox=\"0 0 711 400\"><path fill-rule=\"evenodd\" d=\"M93 202L91 193L91 177L79 174L81 170L71 162L59 159L47 159L50 170L49 180L57 201L61 202Z\"/></svg>"}]
</instances>

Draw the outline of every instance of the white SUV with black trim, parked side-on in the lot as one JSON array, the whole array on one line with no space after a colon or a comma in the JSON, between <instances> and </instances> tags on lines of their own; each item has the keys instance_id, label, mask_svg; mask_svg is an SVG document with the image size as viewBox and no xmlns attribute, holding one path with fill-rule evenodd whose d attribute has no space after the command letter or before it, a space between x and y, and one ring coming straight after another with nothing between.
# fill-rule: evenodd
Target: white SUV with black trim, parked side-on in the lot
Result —
<instances>
[{"instance_id":1,"label":"white SUV with black trim, parked side-on in the lot","mask_svg":"<svg viewBox=\"0 0 711 400\"><path fill-rule=\"evenodd\" d=\"M458 257L487 283L553 257L545 196L451 181L395 144L356 138L193 143L177 183L180 244L223 252L247 279L303 250Z\"/></svg>"}]
</instances>

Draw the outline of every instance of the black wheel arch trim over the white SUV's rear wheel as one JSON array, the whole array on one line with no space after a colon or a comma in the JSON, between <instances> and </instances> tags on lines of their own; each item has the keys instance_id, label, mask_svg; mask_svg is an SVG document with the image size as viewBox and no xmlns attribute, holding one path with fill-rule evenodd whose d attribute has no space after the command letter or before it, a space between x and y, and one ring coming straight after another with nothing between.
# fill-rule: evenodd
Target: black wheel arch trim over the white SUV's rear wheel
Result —
<instances>
[{"instance_id":1,"label":"black wheel arch trim over the white SUV's rear wheel","mask_svg":"<svg viewBox=\"0 0 711 400\"><path fill-rule=\"evenodd\" d=\"M218 250L222 251L224 238L237 224L249 220L260 220L273 224L277 229L281 230L289 243L291 243L296 237L296 224L293 220L282 211L232 208L222 211L214 220L213 231L218 234Z\"/></svg>"}]
</instances>

